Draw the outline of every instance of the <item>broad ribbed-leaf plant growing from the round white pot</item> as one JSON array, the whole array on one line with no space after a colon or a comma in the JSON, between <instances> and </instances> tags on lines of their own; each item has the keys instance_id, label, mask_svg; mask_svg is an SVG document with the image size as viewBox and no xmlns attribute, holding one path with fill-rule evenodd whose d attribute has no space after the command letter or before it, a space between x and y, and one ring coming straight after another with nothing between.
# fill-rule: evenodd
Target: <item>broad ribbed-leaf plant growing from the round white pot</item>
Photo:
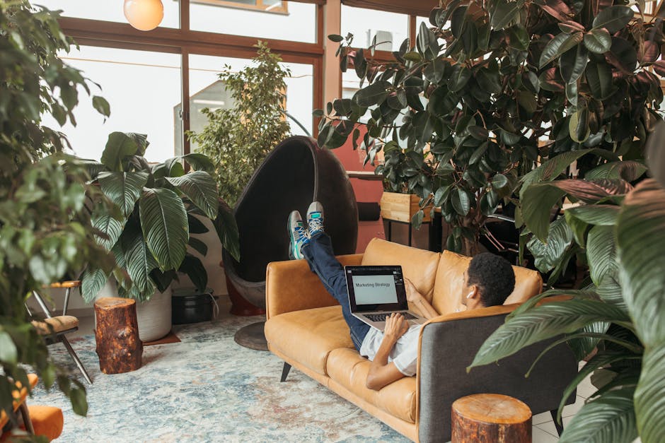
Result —
<instances>
[{"instance_id":1,"label":"broad ribbed-leaf plant growing from the round white pot","mask_svg":"<svg viewBox=\"0 0 665 443\"><path fill-rule=\"evenodd\" d=\"M122 273L110 276L103 268L88 266L81 278L81 294L91 302L113 277L118 294L139 301L149 300L158 289L166 290L185 273L199 290L207 285L201 261L187 252L192 247L202 255L207 246L192 234L207 232L197 216L213 220L222 245L238 257L238 228L233 214L217 194L209 175L214 165L209 158L191 153L149 165L143 157L146 136L114 132L108 137L101 163L86 163L94 184L114 204L109 211L93 202L92 222L98 242L112 252ZM183 163L194 170L185 172Z\"/></svg>"}]
</instances>

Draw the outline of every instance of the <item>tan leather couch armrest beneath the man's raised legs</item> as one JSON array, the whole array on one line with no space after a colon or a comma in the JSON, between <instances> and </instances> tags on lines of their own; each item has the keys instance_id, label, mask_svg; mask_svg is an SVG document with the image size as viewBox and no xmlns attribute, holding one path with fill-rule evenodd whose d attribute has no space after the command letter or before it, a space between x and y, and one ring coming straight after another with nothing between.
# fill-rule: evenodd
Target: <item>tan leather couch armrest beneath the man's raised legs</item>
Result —
<instances>
[{"instance_id":1,"label":"tan leather couch armrest beneath the man's raised legs","mask_svg":"<svg viewBox=\"0 0 665 443\"><path fill-rule=\"evenodd\" d=\"M359 265L362 254L340 255L344 266ZM338 305L305 260L272 261L265 272L266 317L284 312Z\"/></svg>"}]
</instances>

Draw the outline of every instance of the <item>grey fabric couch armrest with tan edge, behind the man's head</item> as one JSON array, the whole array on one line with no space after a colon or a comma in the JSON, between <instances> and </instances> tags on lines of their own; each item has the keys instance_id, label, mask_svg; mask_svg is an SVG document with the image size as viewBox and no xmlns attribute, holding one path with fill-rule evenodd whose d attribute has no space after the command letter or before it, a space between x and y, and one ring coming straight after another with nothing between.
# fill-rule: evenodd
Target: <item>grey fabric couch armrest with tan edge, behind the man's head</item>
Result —
<instances>
[{"instance_id":1,"label":"grey fabric couch armrest with tan edge, behind the man's head","mask_svg":"<svg viewBox=\"0 0 665 443\"><path fill-rule=\"evenodd\" d=\"M504 394L519 398L533 415L558 407L564 389L577 374L577 360L562 343L546 353L525 378L540 352L555 338L535 343L492 365L474 367L476 351L504 324L517 305L456 312L436 317L420 331L417 369L417 432L420 442L451 438L453 401L471 394ZM575 394L568 398L573 403Z\"/></svg>"}]
</instances>

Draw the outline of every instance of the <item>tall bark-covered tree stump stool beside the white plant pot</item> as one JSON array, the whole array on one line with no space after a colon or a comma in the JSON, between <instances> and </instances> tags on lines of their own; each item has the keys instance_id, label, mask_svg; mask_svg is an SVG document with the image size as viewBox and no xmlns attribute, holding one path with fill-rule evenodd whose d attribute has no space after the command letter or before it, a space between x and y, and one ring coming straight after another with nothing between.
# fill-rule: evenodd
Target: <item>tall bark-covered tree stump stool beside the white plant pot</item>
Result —
<instances>
[{"instance_id":1,"label":"tall bark-covered tree stump stool beside the white plant pot","mask_svg":"<svg viewBox=\"0 0 665 443\"><path fill-rule=\"evenodd\" d=\"M95 302L95 317L99 369L105 374L139 369L143 343L139 339L136 302L120 297L100 298Z\"/></svg>"}]
</instances>

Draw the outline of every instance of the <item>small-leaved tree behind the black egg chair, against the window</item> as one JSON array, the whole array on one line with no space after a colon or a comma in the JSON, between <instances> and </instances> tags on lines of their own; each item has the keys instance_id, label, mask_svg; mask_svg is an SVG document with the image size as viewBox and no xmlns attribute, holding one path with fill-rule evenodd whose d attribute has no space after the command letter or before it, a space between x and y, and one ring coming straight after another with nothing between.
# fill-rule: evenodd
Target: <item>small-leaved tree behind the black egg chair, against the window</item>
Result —
<instances>
[{"instance_id":1,"label":"small-leaved tree behind the black egg chair, against the window","mask_svg":"<svg viewBox=\"0 0 665 443\"><path fill-rule=\"evenodd\" d=\"M203 131L187 133L197 150L212 160L219 194L231 206L265 156L289 135L284 78L291 71L279 65L281 57L264 42L256 47L253 66L239 72L225 66L219 74L233 97L233 107L205 108L208 124Z\"/></svg>"}]
</instances>

